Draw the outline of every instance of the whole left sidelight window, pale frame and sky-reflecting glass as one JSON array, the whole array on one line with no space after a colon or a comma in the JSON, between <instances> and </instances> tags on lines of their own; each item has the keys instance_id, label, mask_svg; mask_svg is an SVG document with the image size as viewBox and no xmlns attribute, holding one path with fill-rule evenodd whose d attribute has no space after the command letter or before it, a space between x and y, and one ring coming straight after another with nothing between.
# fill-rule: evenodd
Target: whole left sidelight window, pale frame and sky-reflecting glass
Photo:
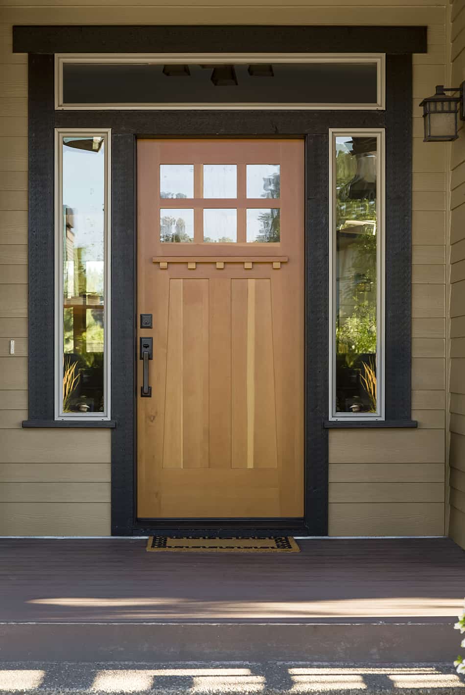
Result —
<instances>
[{"instance_id":1,"label":"whole left sidelight window, pale frame and sky-reflecting glass","mask_svg":"<svg viewBox=\"0 0 465 695\"><path fill-rule=\"evenodd\" d=\"M110 131L56 131L56 419L110 418Z\"/></svg>"}]
</instances>

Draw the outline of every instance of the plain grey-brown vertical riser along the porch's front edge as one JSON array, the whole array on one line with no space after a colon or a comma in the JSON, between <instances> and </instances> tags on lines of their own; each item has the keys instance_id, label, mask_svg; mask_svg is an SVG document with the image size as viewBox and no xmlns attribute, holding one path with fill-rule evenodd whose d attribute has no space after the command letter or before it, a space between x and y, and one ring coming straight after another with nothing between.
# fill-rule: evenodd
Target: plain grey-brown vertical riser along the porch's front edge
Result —
<instances>
[{"instance_id":1,"label":"plain grey-brown vertical riser along the porch's front edge","mask_svg":"<svg viewBox=\"0 0 465 695\"><path fill-rule=\"evenodd\" d=\"M0 662L452 662L450 618L391 621L0 623Z\"/></svg>"}]
</instances>

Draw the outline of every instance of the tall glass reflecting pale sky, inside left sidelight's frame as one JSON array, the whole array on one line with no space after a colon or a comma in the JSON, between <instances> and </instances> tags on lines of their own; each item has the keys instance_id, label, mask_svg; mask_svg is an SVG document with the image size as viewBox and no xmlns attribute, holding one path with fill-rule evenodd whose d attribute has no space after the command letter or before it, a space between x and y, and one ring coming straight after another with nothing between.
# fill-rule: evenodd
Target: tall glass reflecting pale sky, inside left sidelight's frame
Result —
<instances>
[{"instance_id":1,"label":"tall glass reflecting pale sky, inside left sidelight's frame","mask_svg":"<svg viewBox=\"0 0 465 695\"><path fill-rule=\"evenodd\" d=\"M62 138L63 413L105 403L105 140Z\"/></svg>"}]
</instances>

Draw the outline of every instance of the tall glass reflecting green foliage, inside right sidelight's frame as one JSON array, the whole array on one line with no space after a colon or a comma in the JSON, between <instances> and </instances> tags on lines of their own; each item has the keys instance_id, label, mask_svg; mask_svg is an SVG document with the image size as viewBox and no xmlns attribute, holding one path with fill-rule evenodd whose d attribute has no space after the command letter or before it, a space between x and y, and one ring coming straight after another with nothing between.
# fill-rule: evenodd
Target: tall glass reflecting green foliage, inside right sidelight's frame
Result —
<instances>
[{"instance_id":1,"label":"tall glass reflecting green foliage, inside right sidelight's frame","mask_svg":"<svg viewBox=\"0 0 465 695\"><path fill-rule=\"evenodd\" d=\"M377 411L377 139L336 138L336 412Z\"/></svg>"}]
</instances>

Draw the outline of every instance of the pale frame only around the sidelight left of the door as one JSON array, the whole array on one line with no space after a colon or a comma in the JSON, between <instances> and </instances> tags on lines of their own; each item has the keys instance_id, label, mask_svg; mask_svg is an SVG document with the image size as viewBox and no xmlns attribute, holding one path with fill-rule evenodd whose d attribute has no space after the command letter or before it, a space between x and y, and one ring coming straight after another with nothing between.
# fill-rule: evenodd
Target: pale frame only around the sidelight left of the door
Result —
<instances>
[{"instance_id":1,"label":"pale frame only around the sidelight left of the door","mask_svg":"<svg viewBox=\"0 0 465 695\"><path fill-rule=\"evenodd\" d=\"M62 138L96 136L105 138L105 213L104 213L104 304L103 304L103 413L63 413L63 148ZM82 422L110 420L111 404L111 129L68 128L55 129L55 420Z\"/></svg>"}]
</instances>

